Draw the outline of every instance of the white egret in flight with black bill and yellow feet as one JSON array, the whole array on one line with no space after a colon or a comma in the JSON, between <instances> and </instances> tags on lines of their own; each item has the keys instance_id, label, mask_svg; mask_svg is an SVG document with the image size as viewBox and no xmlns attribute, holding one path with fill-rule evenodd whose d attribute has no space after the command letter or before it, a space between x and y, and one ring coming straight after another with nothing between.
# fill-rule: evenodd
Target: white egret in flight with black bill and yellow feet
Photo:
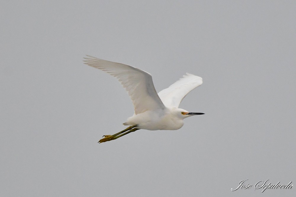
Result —
<instances>
[{"instance_id":1,"label":"white egret in flight with black bill and yellow feet","mask_svg":"<svg viewBox=\"0 0 296 197\"><path fill-rule=\"evenodd\" d=\"M88 56L84 64L100 69L118 79L133 101L135 113L123 125L128 128L104 135L99 143L115 140L139 129L177 130L184 125L184 118L201 115L178 108L183 98L202 84L202 78L186 73L180 80L158 94L151 74L125 64L115 63Z\"/></svg>"}]
</instances>

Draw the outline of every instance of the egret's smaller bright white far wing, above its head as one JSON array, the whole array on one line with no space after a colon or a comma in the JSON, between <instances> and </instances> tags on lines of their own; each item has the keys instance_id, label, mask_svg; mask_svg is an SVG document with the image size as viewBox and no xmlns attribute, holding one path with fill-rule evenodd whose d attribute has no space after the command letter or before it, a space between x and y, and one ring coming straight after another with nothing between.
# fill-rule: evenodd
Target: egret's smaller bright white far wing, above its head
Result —
<instances>
[{"instance_id":1,"label":"egret's smaller bright white far wing, above its head","mask_svg":"<svg viewBox=\"0 0 296 197\"><path fill-rule=\"evenodd\" d=\"M165 106L178 108L183 98L201 84L201 77L186 73L170 87L158 92L158 96Z\"/></svg>"}]
</instances>

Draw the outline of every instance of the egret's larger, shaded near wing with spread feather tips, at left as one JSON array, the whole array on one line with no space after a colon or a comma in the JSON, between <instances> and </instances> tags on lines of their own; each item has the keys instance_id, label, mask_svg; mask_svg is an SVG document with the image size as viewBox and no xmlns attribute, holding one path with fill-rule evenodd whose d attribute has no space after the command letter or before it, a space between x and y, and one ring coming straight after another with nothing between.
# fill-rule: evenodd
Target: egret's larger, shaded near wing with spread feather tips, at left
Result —
<instances>
[{"instance_id":1,"label":"egret's larger, shaded near wing with spread feather tips, at left","mask_svg":"<svg viewBox=\"0 0 296 197\"><path fill-rule=\"evenodd\" d=\"M154 88L151 74L125 64L88 56L84 64L100 69L118 79L133 101L135 114L147 110L164 109Z\"/></svg>"}]
</instances>

